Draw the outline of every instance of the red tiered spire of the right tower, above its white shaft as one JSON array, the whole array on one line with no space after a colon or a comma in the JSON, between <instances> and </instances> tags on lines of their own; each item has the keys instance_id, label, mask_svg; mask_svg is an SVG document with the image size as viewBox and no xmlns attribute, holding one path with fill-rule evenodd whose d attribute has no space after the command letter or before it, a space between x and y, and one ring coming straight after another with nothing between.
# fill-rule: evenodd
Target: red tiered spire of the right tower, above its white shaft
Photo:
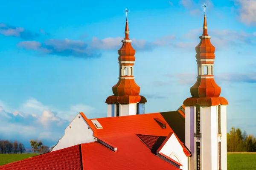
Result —
<instances>
[{"instance_id":1,"label":"red tiered spire of the right tower, above its white shaft","mask_svg":"<svg viewBox=\"0 0 256 170\"><path fill-rule=\"evenodd\" d=\"M184 105L227 105L226 99L212 99L218 98L221 94L221 87L219 87L213 76L213 64L215 59L215 47L210 42L210 36L207 34L207 21L204 14L203 34L199 37L201 39L198 46L196 46L196 59L198 62L198 79L190 92L193 98L205 98L204 100L195 100L188 98L184 101ZM203 74L203 69L207 69L207 74ZM197 102L195 102L197 101ZM198 103L198 101L201 101ZM202 102L204 101L204 102Z\"/></svg>"}]
</instances>

